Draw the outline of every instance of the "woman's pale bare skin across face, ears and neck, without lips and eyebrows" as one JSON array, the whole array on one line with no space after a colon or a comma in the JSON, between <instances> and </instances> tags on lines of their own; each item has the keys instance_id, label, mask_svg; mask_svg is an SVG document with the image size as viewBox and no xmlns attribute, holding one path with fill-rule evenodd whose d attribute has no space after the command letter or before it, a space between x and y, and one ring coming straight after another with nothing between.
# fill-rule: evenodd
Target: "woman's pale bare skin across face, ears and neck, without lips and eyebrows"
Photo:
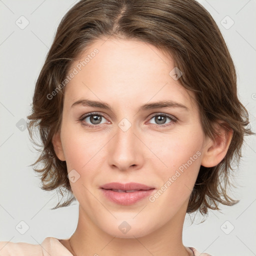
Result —
<instances>
[{"instance_id":1,"label":"woman's pale bare skin across face, ears and neck, without lips and eyebrows","mask_svg":"<svg viewBox=\"0 0 256 256\"><path fill-rule=\"evenodd\" d=\"M61 126L52 138L67 171L74 169L80 175L70 182L79 202L78 224L70 238L72 248L68 240L61 243L77 256L190 255L182 243L190 193L200 165L215 166L223 159L232 131L220 127L220 136L210 139L204 135L192 102L194 95L169 75L173 60L158 48L135 40L97 40L80 60L94 48L99 52L64 88ZM80 99L106 102L112 111L71 107ZM172 100L187 109L139 110L145 103L160 100ZM93 115L99 115L101 121L93 122L90 116L79 121L91 112L97 112ZM161 113L176 121L163 117L160 122L157 117ZM118 126L123 118L131 125L126 131ZM153 202L147 197L133 205L119 205L99 189L116 181L138 182L158 190L197 151L200 155ZM123 221L131 227L125 234L118 228Z\"/></svg>"}]
</instances>

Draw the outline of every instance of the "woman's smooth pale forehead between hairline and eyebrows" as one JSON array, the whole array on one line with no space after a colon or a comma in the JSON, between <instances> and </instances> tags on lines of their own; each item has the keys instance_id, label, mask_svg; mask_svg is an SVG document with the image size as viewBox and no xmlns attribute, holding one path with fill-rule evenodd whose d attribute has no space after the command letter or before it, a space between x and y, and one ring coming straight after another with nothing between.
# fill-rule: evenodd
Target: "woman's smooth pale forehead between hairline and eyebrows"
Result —
<instances>
[{"instance_id":1,"label":"woman's smooth pale forehead between hairline and eyebrows","mask_svg":"<svg viewBox=\"0 0 256 256\"><path fill-rule=\"evenodd\" d=\"M173 79L174 67L170 55L151 44L97 40L72 63L69 72L75 69L77 73L65 86L65 101L70 105L89 97L133 105L171 99L192 108L193 94Z\"/></svg>"}]
</instances>

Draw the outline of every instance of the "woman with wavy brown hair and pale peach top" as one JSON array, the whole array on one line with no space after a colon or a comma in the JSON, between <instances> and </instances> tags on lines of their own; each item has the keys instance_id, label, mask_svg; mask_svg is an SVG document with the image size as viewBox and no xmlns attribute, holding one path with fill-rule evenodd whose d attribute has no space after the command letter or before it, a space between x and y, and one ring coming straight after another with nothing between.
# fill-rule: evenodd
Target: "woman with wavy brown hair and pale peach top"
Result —
<instances>
[{"instance_id":1,"label":"woman with wavy brown hair and pale peach top","mask_svg":"<svg viewBox=\"0 0 256 256\"><path fill-rule=\"evenodd\" d=\"M69 239L2 241L1 255L209 255L183 245L185 214L237 202L225 192L230 162L252 132L226 44L198 2L79 1L27 118L42 140L42 188L70 191L55 208L77 199L78 224Z\"/></svg>"}]
</instances>

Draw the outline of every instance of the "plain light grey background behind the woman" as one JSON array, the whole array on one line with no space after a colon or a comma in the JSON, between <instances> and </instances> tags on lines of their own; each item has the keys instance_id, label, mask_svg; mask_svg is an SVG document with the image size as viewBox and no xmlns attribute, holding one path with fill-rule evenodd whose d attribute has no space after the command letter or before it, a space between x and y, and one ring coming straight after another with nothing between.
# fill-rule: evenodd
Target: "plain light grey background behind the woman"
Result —
<instances>
[{"instance_id":1,"label":"plain light grey background behind the woman","mask_svg":"<svg viewBox=\"0 0 256 256\"><path fill-rule=\"evenodd\" d=\"M76 228L77 201L50 210L58 201L56 191L39 188L40 180L28 166L37 154L27 129L20 130L20 119L26 120L29 114L34 84L57 25L75 2L0 0L0 240L38 244L47 236L68 238ZM228 45L237 71L238 96L250 113L255 131L256 1L199 2L211 13ZM24 29L15 23L21 15L29 21ZM234 21L228 29L231 20L227 15ZM246 138L242 153L235 170L239 186L232 193L240 202L232 207L221 205L222 213L210 211L201 224L197 224L202 220L198 214L192 225L187 215L184 245L216 256L256 255L255 136ZM26 225L28 230L21 234Z\"/></svg>"}]
</instances>

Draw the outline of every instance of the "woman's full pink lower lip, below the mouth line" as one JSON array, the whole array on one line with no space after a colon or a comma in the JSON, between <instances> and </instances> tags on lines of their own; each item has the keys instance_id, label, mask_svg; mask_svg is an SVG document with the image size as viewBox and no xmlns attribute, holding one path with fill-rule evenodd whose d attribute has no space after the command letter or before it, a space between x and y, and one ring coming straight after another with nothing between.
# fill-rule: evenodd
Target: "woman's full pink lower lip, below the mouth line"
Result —
<instances>
[{"instance_id":1,"label":"woman's full pink lower lip, below the mouth line","mask_svg":"<svg viewBox=\"0 0 256 256\"><path fill-rule=\"evenodd\" d=\"M116 192L110 189L101 188L103 194L112 202L122 204L122 205L131 205L142 198L149 196L154 188L149 190L138 190L134 192Z\"/></svg>"}]
</instances>

